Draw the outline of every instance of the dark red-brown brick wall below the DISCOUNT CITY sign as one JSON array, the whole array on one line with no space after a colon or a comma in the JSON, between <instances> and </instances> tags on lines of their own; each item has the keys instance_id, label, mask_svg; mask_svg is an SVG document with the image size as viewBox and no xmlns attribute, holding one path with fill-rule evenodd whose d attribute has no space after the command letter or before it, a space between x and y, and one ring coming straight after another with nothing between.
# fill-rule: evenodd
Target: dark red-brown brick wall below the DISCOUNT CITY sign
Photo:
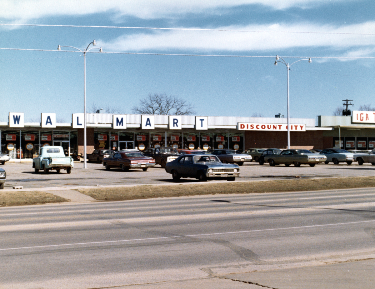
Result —
<instances>
[{"instance_id":1,"label":"dark red-brown brick wall below the DISCOUNT CITY sign","mask_svg":"<svg viewBox=\"0 0 375 289\"><path fill-rule=\"evenodd\" d=\"M245 132L245 148L287 148L287 132ZM290 148L323 149L323 133L319 130L290 132Z\"/></svg>"}]
</instances>

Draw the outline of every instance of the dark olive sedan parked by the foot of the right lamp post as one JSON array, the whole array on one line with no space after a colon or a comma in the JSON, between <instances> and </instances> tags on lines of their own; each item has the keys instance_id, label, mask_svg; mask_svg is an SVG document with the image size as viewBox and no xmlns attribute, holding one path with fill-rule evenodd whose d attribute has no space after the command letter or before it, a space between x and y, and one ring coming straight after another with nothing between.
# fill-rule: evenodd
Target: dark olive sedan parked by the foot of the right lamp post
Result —
<instances>
[{"instance_id":1,"label":"dark olive sedan parked by the foot of the right lamp post","mask_svg":"<svg viewBox=\"0 0 375 289\"><path fill-rule=\"evenodd\" d=\"M284 164L290 166L293 164L296 167L301 164L308 164L315 166L317 163L327 160L326 156L317 155L309 150L283 150L279 154L267 154L264 161L268 162L270 166Z\"/></svg>"}]
</instances>

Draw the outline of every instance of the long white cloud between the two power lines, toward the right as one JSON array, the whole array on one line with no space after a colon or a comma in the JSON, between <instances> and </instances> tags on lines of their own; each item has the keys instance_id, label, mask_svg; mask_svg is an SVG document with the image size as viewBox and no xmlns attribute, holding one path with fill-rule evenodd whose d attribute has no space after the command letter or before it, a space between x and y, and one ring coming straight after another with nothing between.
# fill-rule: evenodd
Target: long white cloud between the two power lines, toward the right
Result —
<instances>
[{"instance_id":1,"label":"long white cloud between the two power lines, toward the right","mask_svg":"<svg viewBox=\"0 0 375 289\"><path fill-rule=\"evenodd\" d=\"M294 47L330 47L338 51L362 46L362 53L371 53L366 46L375 45L375 22L345 25L269 24L246 27L219 27L222 30L247 30L263 32L229 32L196 30L156 30L123 35L112 42L101 42L107 51L270 51ZM264 32L266 31L266 32ZM301 31L320 33L278 33L276 31ZM324 34L327 33L327 34ZM345 34L332 34L345 33ZM354 53L354 52L353 52ZM359 52L357 52L359 53Z\"/></svg>"}]
</instances>

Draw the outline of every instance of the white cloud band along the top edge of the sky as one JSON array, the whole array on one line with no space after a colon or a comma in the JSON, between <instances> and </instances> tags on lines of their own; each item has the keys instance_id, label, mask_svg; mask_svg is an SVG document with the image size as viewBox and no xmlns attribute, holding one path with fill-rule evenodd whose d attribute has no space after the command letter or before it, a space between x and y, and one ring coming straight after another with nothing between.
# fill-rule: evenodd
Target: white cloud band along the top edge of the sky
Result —
<instances>
[{"instance_id":1,"label":"white cloud band along the top edge of the sky","mask_svg":"<svg viewBox=\"0 0 375 289\"><path fill-rule=\"evenodd\" d=\"M353 0L333 0L342 3ZM8 20L38 19L59 15L90 15L110 12L114 15L142 19L169 18L185 13L210 12L214 9L260 4L273 9L308 8L332 4L332 0L1 0L0 18Z\"/></svg>"}]
</instances>

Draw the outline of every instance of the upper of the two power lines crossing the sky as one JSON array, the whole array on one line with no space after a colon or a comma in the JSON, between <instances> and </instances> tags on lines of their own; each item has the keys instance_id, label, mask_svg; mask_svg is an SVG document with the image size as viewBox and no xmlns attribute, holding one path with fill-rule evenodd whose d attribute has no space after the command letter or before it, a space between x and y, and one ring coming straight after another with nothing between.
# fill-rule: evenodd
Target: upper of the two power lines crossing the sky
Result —
<instances>
[{"instance_id":1,"label":"upper of the two power lines crossing the sky","mask_svg":"<svg viewBox=\"0 0 375 289\"><path fill-rule=\"evenodd\" d=\"M161 28L161 27L131 27L131 26L96 26L96 25L53 25L53 24L2 24L12 26L45 26L45 27L84 27L84 28L123 28L123 29L153 29L153 30L195 30L195 31L225 31L225 32L254 32L254 33L312 33L312 34L345 34L345 35L375 35L375 33L346 33L346 32L314 32L314 31L263 31L263 30L227 30L209 28Z\"/></svg>"}]
</instances>

